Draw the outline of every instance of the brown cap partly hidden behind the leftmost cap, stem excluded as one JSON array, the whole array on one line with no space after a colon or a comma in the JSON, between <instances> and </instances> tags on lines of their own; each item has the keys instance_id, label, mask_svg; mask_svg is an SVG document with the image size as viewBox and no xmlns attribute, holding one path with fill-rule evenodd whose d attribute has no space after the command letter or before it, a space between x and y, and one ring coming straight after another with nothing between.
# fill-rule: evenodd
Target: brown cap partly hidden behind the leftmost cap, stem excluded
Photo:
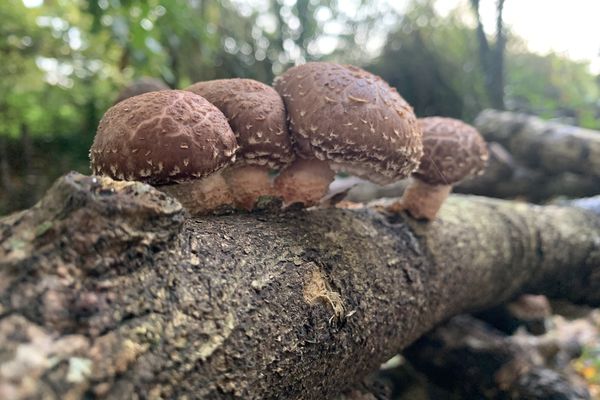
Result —
<instances>
[{"instance_id":1,"label":"brown cap partly hidden behind the leftmost cap, stem excluded","mask_svg":"<svg viewBox=\"0 0 600 400\"><path fill-rule=\"evenodd\" d=\"M217 79L188 87L225 114L240 150L238 164L280 169L294 159L285 107L272 87L252 79Z\"/></svg>"}]
</instances>

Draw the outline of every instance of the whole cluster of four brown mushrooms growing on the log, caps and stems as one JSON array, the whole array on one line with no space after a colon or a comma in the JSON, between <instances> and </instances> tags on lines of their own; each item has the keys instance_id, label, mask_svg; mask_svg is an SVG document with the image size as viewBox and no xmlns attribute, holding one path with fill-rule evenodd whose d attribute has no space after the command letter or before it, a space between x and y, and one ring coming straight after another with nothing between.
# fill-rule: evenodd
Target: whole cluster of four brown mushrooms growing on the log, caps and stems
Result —
<instances>
[{"instance_id":1,"label":"whole cluster of four brown mushrooms growing on the log, caps and stems","mask_svg":"<svg viewBox=\"0 0 600 400\"><path fill-rule=\"evenodd\" d=\"M479 134L452 121L418 121L378 76L313 62L274 87L219 79L124 99L103 116L90 160L94 174L150 183L194 214L252 210L261 196L313 206L337 172L380 184L413 174L389 210L432 219L448 185L485 164Z\"/></svg>"}]
</instances>

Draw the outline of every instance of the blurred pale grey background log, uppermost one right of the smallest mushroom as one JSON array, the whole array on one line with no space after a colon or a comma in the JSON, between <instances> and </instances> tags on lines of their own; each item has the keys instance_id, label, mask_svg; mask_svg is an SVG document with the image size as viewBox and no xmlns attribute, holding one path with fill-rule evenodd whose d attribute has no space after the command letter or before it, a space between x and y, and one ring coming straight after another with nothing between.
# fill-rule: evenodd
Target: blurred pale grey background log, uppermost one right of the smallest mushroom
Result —
<instances>
[{"instance_id":1,"label":"blurred pale grey background log, uppermost one right of the smallest mushroom","mask_svg":"<svg viewBox=\"0 0 600 400\"><path fill-rule=\"evenodd\" d=\"M570 172L600 187L600 132L544 121L526 114L484 110L475 125L526 166L547 175Z\"/></svg>"}]
</instances>

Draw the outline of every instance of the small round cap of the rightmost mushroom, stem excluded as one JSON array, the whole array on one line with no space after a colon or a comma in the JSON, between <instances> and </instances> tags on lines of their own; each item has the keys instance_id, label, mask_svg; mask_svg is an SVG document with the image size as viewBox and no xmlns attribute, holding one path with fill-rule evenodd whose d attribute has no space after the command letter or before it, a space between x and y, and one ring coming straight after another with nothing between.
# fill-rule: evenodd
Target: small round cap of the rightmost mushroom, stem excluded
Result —
<instances>
[{"instance_id":1,"label":"small round cap of the rightmost mushroom, stem excluded","mask_svg":"<svg viewBox=\"0 0 600 400\"><path fill-rule=\"evenodd\" d=\"M453 185L483 172L487 145L473 126L444 117L421 118L419 125L424 154L415 177L431 185Z\"/></svg>"}]
</instances>

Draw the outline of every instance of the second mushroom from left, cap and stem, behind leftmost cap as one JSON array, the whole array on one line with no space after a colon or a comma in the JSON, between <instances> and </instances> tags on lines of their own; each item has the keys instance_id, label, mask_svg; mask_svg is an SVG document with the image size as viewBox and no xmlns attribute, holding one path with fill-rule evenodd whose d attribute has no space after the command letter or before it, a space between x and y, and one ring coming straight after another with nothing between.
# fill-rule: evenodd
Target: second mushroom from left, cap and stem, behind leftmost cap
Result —
<instances>
[{"instance_id":1,"label":"second mushroom from left, cap and stem, behind leftmost cap","mask_svg":"<svg viewBox=\"0 0 600 400\"><path fill-rule=\"evenodd\" d=\"M260 196L271 196L270 171L294 159L281 96L252 79L198 82L186 90L199 94L227 117L240 150L223 172L238 207L251 210Z\"/></svg>"}]
</instances>

